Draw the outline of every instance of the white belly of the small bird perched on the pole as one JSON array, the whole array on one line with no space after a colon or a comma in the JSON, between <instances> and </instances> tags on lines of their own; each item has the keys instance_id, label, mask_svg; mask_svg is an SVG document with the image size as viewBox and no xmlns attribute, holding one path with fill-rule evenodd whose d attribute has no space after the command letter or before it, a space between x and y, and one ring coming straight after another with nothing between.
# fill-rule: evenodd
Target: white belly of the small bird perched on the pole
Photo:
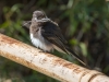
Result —
<instances>
[{"instance_id":1,"label":"white belly of the small bird perched on the pole","mask_svg":"<svg viewBox=\"0 0 109 82\"><path fill-rule=\"evenodd\" d=\"M49 42L45 40L41 35L39 35L38 37L35 38L33 34L31 34L31 40L33 45L35 45L37 48L43 49L44 51L53 50L53 46Z\"/></svg>"}]
</instances>

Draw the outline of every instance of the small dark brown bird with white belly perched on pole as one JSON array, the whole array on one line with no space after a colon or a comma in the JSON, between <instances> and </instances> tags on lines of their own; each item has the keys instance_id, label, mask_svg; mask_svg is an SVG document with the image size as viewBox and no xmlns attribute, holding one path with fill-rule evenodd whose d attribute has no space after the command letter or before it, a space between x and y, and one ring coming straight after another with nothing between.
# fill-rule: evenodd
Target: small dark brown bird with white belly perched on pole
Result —
<instances>
[{"instance_id":1,"label":"small dark brown bird with white belly perched on pole","mask_svg":"<svg viewBox=\"0 0 109 82\"><path fill-rule=\"evenodd\" d=\"M55 49L75 57L81 63L86 63L69 46L63 37L59 25L50 20L44 11L34 11L32 21L24 23L29 27L29 37L33 45L44 51L50 52Z\"/></svg>"}]
</instances>

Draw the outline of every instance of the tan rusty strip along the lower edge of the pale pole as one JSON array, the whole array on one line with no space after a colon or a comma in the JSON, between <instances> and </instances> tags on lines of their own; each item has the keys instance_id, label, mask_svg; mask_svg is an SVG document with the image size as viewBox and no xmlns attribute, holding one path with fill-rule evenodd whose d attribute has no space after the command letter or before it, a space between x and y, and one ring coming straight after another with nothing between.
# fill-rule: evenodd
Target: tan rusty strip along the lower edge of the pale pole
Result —
<instances>
[{"instance_id":1,"label":"tan rusty strip along the lower edge of the pale pole","mask_svg":"<svg viewBox=\"0 0 109 82\"><path fill-rule=\"evenodd\" d=\"M45 74L47 74L47 75L49 75L49 77L52 77L52 78L58 79L58 80L60 80L60 81L68 82L66 80L64 80L64 79L62 79L61 77L59 77L58 74L56 74L53 71L52 71L52 72L49 72L49 71L46 70L45 68L37 67L37 66L33 65L32 62L26 61L26 60L24 60L24 59L22 59L22 58L20 58L20 57L15 57L15 56L13 56L13 55L11 55L11 54L9 54L9 52L3 52L3 51L1 51L1 50L0 50L0 55L3 56L3 57L5 57L5 58L8 58L8 59L11 59L11 60L13 60L13 61L15 61L15 62L17 62L17 63L21 63L21 65L23 65L23 66L26 66L26 67L28 67L28 68L31 68L31 69L34 69L34 70L36 70L36 71L39 71L39 72L41 72L41 73L45 73ZM46 61L46 59L44 59L44 61Z\"/></svg>"}]
</instances>

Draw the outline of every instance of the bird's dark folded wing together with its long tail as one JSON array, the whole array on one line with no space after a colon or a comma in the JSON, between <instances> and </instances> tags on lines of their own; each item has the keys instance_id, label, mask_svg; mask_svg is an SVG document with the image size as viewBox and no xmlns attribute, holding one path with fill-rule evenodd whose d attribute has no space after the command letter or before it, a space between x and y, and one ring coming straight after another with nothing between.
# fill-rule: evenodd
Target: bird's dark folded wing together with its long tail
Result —
<instances>
[{"instance_id":1,"label":"bird's dark folded wing together with its long tail","mask_svg":"<svg viewBox=\"0 0 109 82\"><path fill-rule=\"evenodd\" d=\"M62 36L61 31L58 27L58 25L56 25L56 24L53 24L51 22L45 23L44 26L43 26L41 35L48 42L50 42L51 44L53 44L57 47L59 47L60 49L62 49L64 52L74 56L78 61L81 61L83 65L85 65L82 61L81 57L78 57L72 49L70 49L66 46L66 40Z\"/></svg>"}]
</instances>

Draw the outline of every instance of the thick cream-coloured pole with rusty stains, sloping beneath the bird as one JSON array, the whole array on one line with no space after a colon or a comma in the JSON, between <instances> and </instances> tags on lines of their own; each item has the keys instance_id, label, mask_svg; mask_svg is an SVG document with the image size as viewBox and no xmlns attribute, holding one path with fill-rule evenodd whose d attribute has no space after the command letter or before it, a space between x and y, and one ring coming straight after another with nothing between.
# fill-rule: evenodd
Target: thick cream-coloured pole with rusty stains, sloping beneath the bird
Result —
<instances>
[{"instance_id":1,"label":"thick cream-coloured pole with rusty stains, sloping beneath the bird","mask_svg":"<svg viewBox=\"0 0 109 82\"><path fill-rule=\"evenodd\" d=\"M0 34L0 55L62 82L109 82L109 78Z\"/></svg>"}]
</instances>

